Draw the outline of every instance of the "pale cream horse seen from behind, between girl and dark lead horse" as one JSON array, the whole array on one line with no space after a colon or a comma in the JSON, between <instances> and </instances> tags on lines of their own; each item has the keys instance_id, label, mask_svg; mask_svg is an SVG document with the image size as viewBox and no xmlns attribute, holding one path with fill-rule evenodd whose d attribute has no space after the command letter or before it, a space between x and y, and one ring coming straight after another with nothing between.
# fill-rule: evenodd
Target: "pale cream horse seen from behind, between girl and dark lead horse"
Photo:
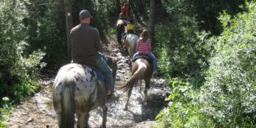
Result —
<instances>
[{"instance_id":1,"label":"pale cream horse seen from behind, between girl and dark lead horse","mask_svg":"<svg viewBox=\"0 0 256 128\"><path fill-rule=\"evenodd\" d=\"M137 46L137 41L139 37L136 34L127 34L127 37L124 39L124 48L127 48L128 53L129 53L129 60L132 59L132 56L136 52L136 46Z\"/></svg>"}]
</instances>

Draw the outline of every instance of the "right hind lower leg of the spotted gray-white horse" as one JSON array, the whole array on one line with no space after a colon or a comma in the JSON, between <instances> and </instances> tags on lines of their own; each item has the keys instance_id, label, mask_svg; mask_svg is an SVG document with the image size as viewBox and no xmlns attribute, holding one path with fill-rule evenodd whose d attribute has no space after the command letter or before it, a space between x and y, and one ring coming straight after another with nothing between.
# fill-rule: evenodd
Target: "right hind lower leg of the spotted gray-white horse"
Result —
<instances>
[{"instance_id":1,"label":"right hind lower leg of the spotted gray-white horse","mask_svg":"<svg viewBox=\"0 0 256 128\"><path fill-rule=\"evenodd\" d=\"M89 112L78 113L78 124L77 128L88 128Z\"/></svg>"}]
</instances>

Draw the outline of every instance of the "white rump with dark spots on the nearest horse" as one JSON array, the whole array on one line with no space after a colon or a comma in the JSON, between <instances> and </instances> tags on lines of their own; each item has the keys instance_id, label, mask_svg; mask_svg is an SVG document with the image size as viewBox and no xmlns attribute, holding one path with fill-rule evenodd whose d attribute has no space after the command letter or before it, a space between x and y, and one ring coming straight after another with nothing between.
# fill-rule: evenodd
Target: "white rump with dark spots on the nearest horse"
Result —
<instances>
[{"instance_id":1,"label":"white rump with dark spots on the nearest horse","mask_svg":"<svg viewBox=\"0 0 256 128\"><path fill-rule=\"evenodd\" d=\"M67 85L75 86L75 100L90 99L91 103L96 102L98 86L105 90L104 82L98 80L96 72L81 64L67 64L61 67L53 83L53 91L62 91Z\"/></svg>"}]
</instances>

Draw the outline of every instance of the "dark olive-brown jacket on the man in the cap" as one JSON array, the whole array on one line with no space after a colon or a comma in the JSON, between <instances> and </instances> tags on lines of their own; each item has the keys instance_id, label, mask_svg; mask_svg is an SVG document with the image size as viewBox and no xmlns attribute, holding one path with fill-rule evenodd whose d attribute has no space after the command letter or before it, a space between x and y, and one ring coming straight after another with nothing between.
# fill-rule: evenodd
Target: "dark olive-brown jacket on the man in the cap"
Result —
<instances>
[{"instance_id":1,"label":"dark olive-brown jacket on the man in the cap","mask_svg":"<svg viewBox=\"0 0 256 128\"><path fill-rule=\"evenodd\" d=\"M72 61L93 64L102 51L99 31L86 23L80 23L70 31Z\"/></svg>"}]
</instances>

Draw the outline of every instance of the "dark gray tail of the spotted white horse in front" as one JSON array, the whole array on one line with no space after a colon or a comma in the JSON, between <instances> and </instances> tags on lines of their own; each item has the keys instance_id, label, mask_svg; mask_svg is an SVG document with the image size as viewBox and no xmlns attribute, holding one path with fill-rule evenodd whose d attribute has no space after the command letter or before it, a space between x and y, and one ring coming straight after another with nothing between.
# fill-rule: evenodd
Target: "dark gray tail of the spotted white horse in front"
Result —
<instances>
[{"instance_id":1,"label":"dark gray tail of the spotted white horse in front","mask_svg":"<svg viewBox=\"0 0 256 128\"><path fill-rule=\"evenodd\" d=\"M61 94L61 128L74 127L75 113L75 83L67 82Z\"/></svg>"}]
</instances>

